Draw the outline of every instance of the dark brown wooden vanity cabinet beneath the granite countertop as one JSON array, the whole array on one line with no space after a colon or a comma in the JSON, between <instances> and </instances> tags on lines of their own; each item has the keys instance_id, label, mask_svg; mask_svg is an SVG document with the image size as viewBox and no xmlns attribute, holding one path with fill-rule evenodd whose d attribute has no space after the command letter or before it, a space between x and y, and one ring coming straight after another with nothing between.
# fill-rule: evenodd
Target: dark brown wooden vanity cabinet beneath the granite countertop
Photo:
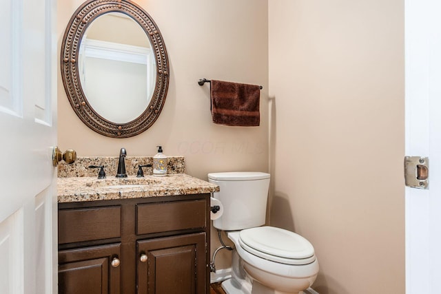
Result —
<instances>
[{"instance_id":1,"label":"dark brown wooden vanity cabinet beneath the granite countertop","mask_svg":"<svg viewBox=\"0 0 441 294\"><path fill-rule=\"evenodd\" d=\"M209 293L209 194L59 204L59 293Z\"/></svg>"}]
</instances>

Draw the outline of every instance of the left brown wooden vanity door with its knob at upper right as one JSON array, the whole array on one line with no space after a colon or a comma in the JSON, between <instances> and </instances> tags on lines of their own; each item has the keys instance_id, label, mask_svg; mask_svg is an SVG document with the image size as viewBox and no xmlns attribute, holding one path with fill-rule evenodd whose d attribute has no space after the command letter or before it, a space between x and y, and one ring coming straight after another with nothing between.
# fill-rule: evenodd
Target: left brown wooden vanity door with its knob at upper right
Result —
<instances>
[{"instance_id":1,"label":"left brown wooden vanity door with its knob at upper right","mask_svg":"<svg viewBox=\"0 0 441 294\"><path fill-rule=\"evenodd\" d=\"M119 294L120 246L59 251L59 293Z\"/></svg>"}]
</instances>

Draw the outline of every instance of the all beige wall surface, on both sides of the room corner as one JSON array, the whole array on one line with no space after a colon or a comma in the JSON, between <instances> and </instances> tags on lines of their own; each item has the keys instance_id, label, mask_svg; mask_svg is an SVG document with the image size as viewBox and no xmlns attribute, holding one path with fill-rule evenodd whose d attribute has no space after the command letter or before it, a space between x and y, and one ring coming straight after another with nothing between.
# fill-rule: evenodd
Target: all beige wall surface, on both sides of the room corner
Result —
<instances>
[{"instance_id":1,"label":"all beige wall surface, on both sides of the room corner","mask_svg":"<svg viewBox=\"0 0 441 294\"><path fill-rule=\"evenodd\" d=\"M76 118L60 78L61 149L148 156L161 144L198 178L269 165L271 224L314 244L320 294L404 293L402 1L136 3L158 23L170 56L163 113L139 136L103 137ZM59 2L59 44L80 4ZM261 126L211 123L209 87L196 83L203 77L263 85ZM224 254L218 269L229 266Z\"/></svg>"}]
</instances>

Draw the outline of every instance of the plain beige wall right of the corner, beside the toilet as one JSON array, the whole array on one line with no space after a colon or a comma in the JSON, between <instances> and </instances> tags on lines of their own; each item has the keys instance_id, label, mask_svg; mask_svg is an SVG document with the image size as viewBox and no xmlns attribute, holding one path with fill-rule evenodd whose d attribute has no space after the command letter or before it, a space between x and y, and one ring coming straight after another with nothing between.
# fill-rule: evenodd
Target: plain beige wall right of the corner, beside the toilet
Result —
<instances>
[{"instance_id":1,"label":"plain beige wall right of the corner, beside the toilet","mask_svg":"<svg viewBox=\"0 0 441 294\"><path fill-rule=\"evenodd\" d=\"M320 294L404 293L404 2L268 3L271 224Z\"/></svg>"}]
</instances>

